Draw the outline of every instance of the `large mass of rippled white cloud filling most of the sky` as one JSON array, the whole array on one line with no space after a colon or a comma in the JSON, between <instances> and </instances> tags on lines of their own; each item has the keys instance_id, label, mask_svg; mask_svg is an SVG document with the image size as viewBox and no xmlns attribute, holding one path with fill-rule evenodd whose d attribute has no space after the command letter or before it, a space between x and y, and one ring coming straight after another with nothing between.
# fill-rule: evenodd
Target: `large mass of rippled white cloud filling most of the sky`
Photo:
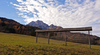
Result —
<instances>
[{"instance_id":1,"label":"large mass of rippled white cloud filling most of the sky","mask_svg":"<svg viewBox=\"0 0 100 55\"><path fill-rule=\"evenodd\" d=\"M59 4L57 0L17 0L19 4L13 4L19 10L19 15L25 18L26 24L31 21L42 20L47 24L62 27L93 26L93 34L100 23L100 0L65 0ZM30 17L27 14L33 14ZM100 29L100 28L98 28ZM100 33L100 31L99 31ZM99 34L97 34L99 35ZM99 35L100 36L100 35Z\"/></svg>"}]
</instances>

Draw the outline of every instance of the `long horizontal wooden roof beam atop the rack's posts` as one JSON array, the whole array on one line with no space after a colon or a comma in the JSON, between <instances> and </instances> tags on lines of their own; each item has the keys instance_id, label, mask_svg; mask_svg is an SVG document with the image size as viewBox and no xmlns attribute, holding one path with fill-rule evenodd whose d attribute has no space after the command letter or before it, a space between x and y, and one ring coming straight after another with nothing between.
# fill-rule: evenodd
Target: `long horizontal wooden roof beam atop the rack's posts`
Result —
<instances>
[{"instance_id":1,"label":"long horizontal wooden roof beam atop the rack's posts","mask_svg":"<svg viewBox=\"0 0 100 55\"><path fill-rule=\"evenodd\" d=\"M68 31L92 31L92 27L81 28L63 28L63 29L49 29L49 30L35 30L35 32L68 32Z\"/></svg>"}]
</instances>

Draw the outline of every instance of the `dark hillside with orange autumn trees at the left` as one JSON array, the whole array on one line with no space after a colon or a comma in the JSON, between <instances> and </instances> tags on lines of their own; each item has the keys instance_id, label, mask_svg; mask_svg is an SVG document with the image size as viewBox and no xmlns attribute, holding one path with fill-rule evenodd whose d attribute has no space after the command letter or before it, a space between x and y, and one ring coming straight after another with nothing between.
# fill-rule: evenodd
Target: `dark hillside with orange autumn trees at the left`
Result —
<instances>
[{"instance_id":1,"label":"dark hillside with orange autumn trees at the left","mask_svg":"<svg viewBox=\"0 0 100 55\"><path fill-rule=\"evenodd\" d=\"M36 29L40 28L29 25L22 25L12 19L0 17L0 32L35 35Z\"/></svg>"}]
</instances>

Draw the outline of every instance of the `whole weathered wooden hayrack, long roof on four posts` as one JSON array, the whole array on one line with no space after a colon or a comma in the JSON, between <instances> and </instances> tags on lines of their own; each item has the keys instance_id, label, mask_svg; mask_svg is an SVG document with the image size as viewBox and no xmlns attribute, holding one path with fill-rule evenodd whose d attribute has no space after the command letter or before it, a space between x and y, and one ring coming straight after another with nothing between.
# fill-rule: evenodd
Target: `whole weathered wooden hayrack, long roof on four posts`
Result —
<instances>
[{"instance_id":1,"label":"whole weathered wooden hayrack, long roof on four posts","mask_svg":"<svg viewBox=\"0 0 100 55\"><path fill-rule=\"evenodd\" d=\"M49 44L49 39L50 39L50 33L51 32L64 32L65 36L65 45L67 45L67 35L66 32L69 31L88 31L88 35L90 35L90 31L92 31L92 27L81 27L81 28L63 28L63 29L58 29L58 30L35 30L36 32L36 43L38 42L38 33L48 33L48 44ZM90 41L90 36L89 36L89 48L91 48L91 41Z\"/></svg>"}]
</instances>

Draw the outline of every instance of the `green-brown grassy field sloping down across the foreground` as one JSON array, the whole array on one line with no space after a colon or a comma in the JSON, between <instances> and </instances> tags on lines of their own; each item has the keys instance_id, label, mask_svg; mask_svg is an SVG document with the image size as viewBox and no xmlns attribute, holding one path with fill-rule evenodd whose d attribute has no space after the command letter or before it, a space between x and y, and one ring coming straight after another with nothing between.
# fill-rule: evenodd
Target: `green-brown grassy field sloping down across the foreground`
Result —
<instances>
[{"instance_id":1,"label":"green-brown grassy field sloping down across the foreground","mask_svg":"<svg viewBox=\"0 0 100 55\"><path fill-rule=\"evenodd\" d=\"M100 55L100 45L86 44L39 38L21 34L0 33L0 55Z\"/></svg>"}]
</instances>

